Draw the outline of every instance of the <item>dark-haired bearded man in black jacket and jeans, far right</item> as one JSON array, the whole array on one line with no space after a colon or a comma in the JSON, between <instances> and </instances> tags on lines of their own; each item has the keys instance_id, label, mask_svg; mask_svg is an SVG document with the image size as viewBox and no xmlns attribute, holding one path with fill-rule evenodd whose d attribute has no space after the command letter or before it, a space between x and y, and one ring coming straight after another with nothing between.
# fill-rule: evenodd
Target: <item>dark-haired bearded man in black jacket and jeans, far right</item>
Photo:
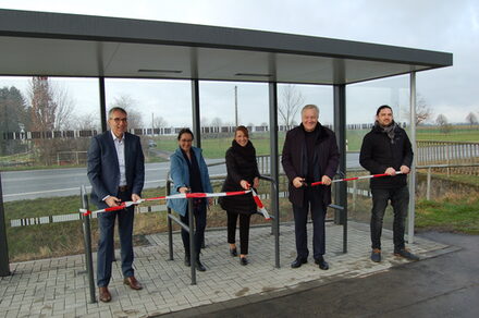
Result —
<instances>
[{"instance_id":1,"label":"dark-haired bearded man in black jacket and jeans, far right","mask_svg":"<svg viewBox=\"0 0 479 318\"><path fill-rule=\"evenodd\" d=\"M390 176L371 179L371 260L381 261L382 220L389 200L394 211L393 242L394 255L407 259L419 259L405 248L404 228L409 203L407 173L413 163L413 148L406 132L393 119L388 105L378 108L376 123L366 134L359 156L360 164L372 174ZM396 170L402 174L396 175Z\"/></svg>"}]
</instances>

